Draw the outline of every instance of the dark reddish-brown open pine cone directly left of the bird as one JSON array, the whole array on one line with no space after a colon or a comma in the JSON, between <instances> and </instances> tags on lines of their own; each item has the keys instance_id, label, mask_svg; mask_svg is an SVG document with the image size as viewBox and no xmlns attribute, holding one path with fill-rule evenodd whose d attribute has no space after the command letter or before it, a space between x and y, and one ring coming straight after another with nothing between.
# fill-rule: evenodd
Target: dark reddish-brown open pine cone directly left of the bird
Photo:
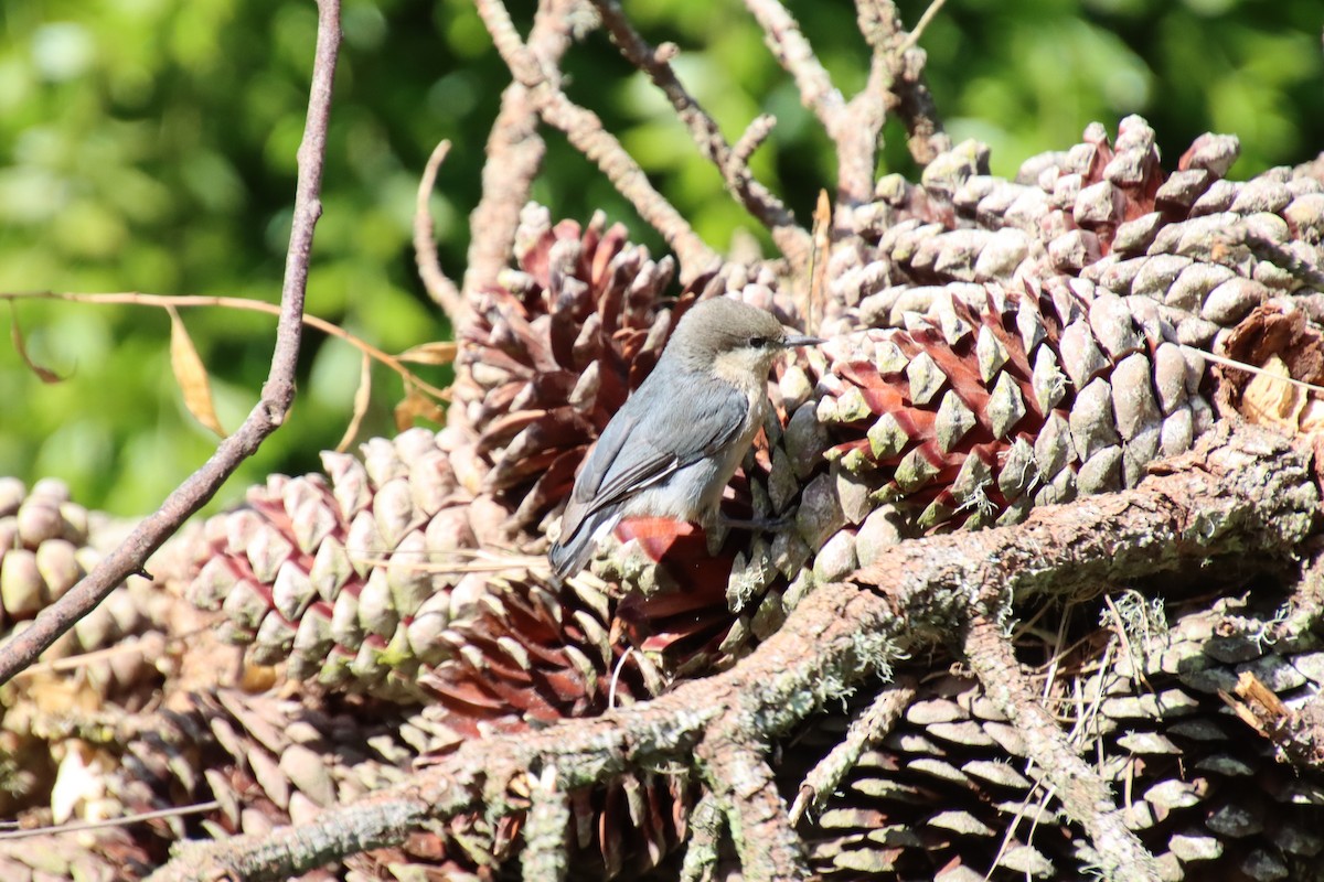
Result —
<instances>
[{"instance_id":1,"label":"dark reddish-brown open pine cone directly left of the bird","mask_svg":"<svg viewBox=\"0 0 1324 882\"><path fill-rule=\"evenodd\" d=\"M584 448L651 370L670 335L675 262L651 261L601 213L551 226L528 206L518 268L478 295L461 329L453 424L478 436L486 489L536 522L569 492ZM457 419L458 418L458 419Z\"/></svg>"}]
</instances>

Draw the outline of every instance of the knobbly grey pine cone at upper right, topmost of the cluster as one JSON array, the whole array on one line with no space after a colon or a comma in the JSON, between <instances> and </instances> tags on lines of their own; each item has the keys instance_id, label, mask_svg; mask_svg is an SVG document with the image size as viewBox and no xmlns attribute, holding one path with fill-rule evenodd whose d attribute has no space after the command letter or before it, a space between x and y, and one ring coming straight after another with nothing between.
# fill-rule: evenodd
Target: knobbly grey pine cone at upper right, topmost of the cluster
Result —
<instances>
[{"instance_id":1,"label":"knobbly grey pine cone at upper right, topmost of the cluster","mask_svg":"<svg viewBox=\"0 0 1324 882\"><path fill-rule=\"evenodd\" d=\"M855 210L876 246L833 254L829 308L853 327L900 327L943 286L977 300L973 286L1057 274L1153 298L1182 342L1210 345L1268 298L1324 290L1324 184L1308 167L1229 181L1237 153L1235 138L1202 135L1166 172L1153 130L1128 116L1115 145L1094 123L1013 182L988 175L986 148L959 145L922 184L884 177Z\"/></svg>"}]
</instances>

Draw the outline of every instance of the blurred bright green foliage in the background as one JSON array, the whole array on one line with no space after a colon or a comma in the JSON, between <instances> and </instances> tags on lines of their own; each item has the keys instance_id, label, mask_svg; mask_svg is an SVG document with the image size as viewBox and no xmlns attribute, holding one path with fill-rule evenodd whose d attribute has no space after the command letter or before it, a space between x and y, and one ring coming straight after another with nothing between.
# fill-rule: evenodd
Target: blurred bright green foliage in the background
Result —
<instances>
[{"instance_id":1,"label":"blurred bright green foliage in the background","mask_svg":"<svg viewBox=\"0 0 1324 882\"><path fill-rule=\"evenodd\" d=\"M532 3L510 3L527 25ZM903 0L915 22L928 0ZM865 81L845 0L788 3L837 85ZM831 153L736 0L625 0L731 140L759 112L779 124L755 171L806 217ZM1324 149L1324 5L1270 0L949 0L922 45L948 130L993 147L993 171L1064 148L1094 119L1131 112L1169 161L1204 131L1242 139L1233 175ZM279 296L295 149L316 9L311 0L5 0L0 4L0 291ZM727 198L681 124L601 33L571 50L568 91L597 111L712 245L752 220ZM508 82L467 0L346 0L324 214L310 312L389 350L449 336L413 270L417 176L454 149L433 200L458 279L487 130ZM882 171L914 172L896 124ZM534 196L556 217L601 208L661 250L564 139L548 134ZM8 312L8 311L5 311ZM81 501L150 510L213 450L169 374L167 317L143 307L23 301L28 349L68 381L42 385L0 346L0 473L65 477ZM233 428L266 376L274 321L189 309L184 321ZM9 315L4 317L11 323ZM350 418L359 357L308 333L290 422L222 500L273 471L316 468ZM399 381L377 370L365 431L391 431ZM444 383L444 372L430 380Z\"/></svg>"}]
</instances>

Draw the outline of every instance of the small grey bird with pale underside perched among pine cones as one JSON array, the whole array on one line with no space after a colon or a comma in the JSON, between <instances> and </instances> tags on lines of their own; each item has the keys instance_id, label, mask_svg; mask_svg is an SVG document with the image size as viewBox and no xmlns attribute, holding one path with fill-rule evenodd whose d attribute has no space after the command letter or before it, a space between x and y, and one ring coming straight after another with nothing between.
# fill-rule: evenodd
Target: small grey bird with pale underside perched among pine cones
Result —
<instances>
[{"instance_id":1,"label":"small grey bird with pale underside perched among pine cones","mask_svg":"<svg viewBox=\"0 0 1324 882\"><path fill-rule=\"evenodd\" d=\"M821 342L730 296L690 308L575 477L548 550L556 577L583 570L626 517L712 525L722 491L763 426L773 361Z\"/></svg>"}]
</instances>

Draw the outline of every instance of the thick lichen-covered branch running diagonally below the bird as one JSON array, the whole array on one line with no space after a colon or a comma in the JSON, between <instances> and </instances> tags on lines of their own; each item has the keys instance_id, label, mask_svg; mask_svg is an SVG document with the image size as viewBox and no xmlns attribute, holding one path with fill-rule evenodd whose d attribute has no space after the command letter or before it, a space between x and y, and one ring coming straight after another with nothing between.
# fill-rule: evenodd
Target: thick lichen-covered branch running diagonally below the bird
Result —
<instances>
[{"instance_id":1,"label":"thick lichen-covered branch running diagonally below the bird","mask_svg":"<svg viewBox=\"0 0 1324 882\"><path fill-rule=\"evenodd\" d=\"M712 750L727 743L753 751L736 766L757 772L761 760L751 744L785 734L820 702L845 694L902 653L959 631L974 599L981 610L1001 608L1013 595L1070 595L1100 582L1200 566L1215 555L1291 553L1311 536L1319 506L1308 465L1308 454L1276 435L1215 428L1196 452L1137 489L1038 509L1019 526L903 542L847 582L816 590L777 633L726 673L596 719L466 741L408 782L328 808L306 824L184 845L152 878L297 875L355 850L399 842L436 819L518 811L502 797L507 787L549 764L575 789L629 770L688 763L696 746L712 739ZM767 796L756 776L752 801L724 808L731 819L761 819L775 825L768 829L780 829L789 819L760 809ZM743 792L727 789L719 801L731 799ZM1106 840L1112 834L1108 826L1095 830Z\"/></svg>"}]
</instances>

